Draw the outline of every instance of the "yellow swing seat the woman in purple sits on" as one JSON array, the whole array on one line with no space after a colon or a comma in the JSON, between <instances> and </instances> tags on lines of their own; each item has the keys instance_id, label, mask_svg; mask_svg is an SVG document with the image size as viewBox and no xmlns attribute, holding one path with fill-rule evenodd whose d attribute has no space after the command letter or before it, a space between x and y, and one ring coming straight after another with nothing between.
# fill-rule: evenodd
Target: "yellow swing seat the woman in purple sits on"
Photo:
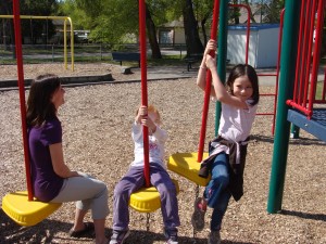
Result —
<instances>
[{"instance_id":1,"label":"yellow swing seat the woman in purple sits on","mask_svg":"<svg viewBox=\"0 0 326 244\"><path fill-rule=\"evenodd\" d=\"M20 226L30 227L55 211L61 203L28 201L27 191L12 192L2 198L3 211Z\"/></svg>"}]
</instances>

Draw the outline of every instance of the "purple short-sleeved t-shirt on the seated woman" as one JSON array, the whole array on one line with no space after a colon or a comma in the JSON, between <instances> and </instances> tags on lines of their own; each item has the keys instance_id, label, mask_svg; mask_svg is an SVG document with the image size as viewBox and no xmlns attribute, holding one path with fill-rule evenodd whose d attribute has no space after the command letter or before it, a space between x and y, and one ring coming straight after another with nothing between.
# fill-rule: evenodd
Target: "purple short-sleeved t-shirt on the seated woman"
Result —
<instances>
[{"instance_id":1,"label":"purple short-sleeved t-shirt on the seated woman","mask_svg":"<svg viewBox=\"0 0 326 244\"><path fill-rule=\"evenodd\" d=\"M49 145L62 142L62 128L58 118L47 120L41 127L28 130L28 145L34 196L50 202L60 192L63 178L52 166Z\"/></svg>"}]
</instances>

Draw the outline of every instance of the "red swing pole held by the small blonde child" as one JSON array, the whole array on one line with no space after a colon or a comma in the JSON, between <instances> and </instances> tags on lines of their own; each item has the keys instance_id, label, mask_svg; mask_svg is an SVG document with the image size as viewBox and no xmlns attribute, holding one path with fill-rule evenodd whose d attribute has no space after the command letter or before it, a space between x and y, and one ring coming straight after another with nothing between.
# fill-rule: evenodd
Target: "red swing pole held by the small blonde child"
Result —
<instances>
[{"instance_id":1,"label":"red swing pole held by the small blonde child","mask_svg":"<svg viewBox=\"0 0 326 244\"><path fill-rule=\"evenodd\" d=\"M139 0L139 44L140 44L140 68L141 68L141 105L148 106L147 94L147 64L146 64L146 5L145 0ZM143 175L146 187L150 187L149 177L149 142L148 127L142 126L143 134Z\"/></svg>"}]
</instances>

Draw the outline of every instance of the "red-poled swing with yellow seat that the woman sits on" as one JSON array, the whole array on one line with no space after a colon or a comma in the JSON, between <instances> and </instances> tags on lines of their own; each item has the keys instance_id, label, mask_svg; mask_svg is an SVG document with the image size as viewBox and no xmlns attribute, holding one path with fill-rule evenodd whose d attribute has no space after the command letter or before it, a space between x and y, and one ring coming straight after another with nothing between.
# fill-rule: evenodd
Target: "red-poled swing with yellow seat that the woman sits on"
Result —
<instances>
[{"instance_id":1,"label":"red-poled swing with yellow seat that the woman sits on","mask_svg":"<svg viewBox=\"0 0 326 244\"><path fill-rule=\"evenodd\" d=\"M7 194L2 198L3 211L21 226L34 226L54 210L61 204L42 203L34 200L33 188L30 182L29 171L29 154L26 128L26 105L25 105L25 89L24 89L24 72L23 72L23 53L22 53L22 38L21 38L21 18L20 18L20 1L13 1L14 12L14 27L15 27L15 43L16 43L16 60L18 73L18 88L20 88L20 102L21 102L21 118L23 130L23 144L24 144L24 158L27 181L27 192L13 192Z\"/></svg>"}]
</instances>

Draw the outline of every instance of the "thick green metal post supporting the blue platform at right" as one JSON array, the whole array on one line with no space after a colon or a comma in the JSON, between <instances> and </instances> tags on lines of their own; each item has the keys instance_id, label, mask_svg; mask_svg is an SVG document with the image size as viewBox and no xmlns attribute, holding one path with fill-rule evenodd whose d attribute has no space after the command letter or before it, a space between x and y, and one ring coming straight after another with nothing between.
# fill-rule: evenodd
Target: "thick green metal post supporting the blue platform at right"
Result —
<instances>
[{"instance_id":1,"label":"thick green metal post supporting the blue platform at right","mask_svg":"<svg viewBox=\"0 0 326 244\"><path fill-rule=\"evenodd\" d=\"M284 35L280 56L280 78L277 100L274 151L269 179L267 211L281 210L281 200L289 147L290 123L287 120L286 101L293 95L293 79L299 33L301 0L286 0Z\"/></svg>"}]
</instances>

